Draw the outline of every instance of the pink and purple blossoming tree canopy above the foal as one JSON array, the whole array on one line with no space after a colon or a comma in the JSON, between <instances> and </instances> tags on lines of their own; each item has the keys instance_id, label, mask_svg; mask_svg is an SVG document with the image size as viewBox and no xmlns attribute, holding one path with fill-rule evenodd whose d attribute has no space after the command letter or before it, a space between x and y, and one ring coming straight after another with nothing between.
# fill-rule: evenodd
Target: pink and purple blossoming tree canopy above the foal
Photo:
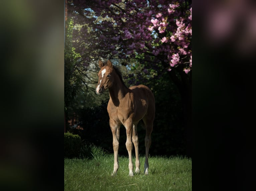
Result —
<instances>
[{"instance_id":1,"label":"pink and purple blossoming tree canopy above the foal","mask_svg":"<svg viewBox=\"0 0 256 191\"><path fill-rule=\"evenodd\" d=\"M98 57L135 58L192 69L192 8L187 1L73 0L77 51L88 65Z\"/></svg>"}]
</instances>

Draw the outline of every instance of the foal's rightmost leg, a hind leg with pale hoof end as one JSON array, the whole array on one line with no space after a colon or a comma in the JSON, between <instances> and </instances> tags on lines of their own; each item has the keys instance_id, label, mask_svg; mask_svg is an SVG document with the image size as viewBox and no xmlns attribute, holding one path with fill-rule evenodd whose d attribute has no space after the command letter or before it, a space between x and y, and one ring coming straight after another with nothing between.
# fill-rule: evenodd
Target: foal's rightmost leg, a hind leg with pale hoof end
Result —
<instances>
[{"instance_id":1,"label":"foal's rightmost leg, a hind leg with pale hoof end","mask_svg":"<svg viewBox=\"0 0 256 191\"><path fill-rule=\"evenodd\" d=\"M146 147L146 155L145 155L145 164L144 164L144 174L148 174L148 152L149 147L151 145L151 133L153 130L153 120L152 118L150 120L143 119L146 127L146 136L145 136L145 147Z\"/></svg>"}]
</instances>

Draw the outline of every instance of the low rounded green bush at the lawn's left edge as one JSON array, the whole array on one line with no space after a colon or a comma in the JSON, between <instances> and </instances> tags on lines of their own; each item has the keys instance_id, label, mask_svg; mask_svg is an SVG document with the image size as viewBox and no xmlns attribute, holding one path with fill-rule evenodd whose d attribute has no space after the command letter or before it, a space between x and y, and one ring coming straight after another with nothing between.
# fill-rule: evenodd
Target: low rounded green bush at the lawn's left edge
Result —
<instances>
[{"instance_id":1,"label":"low rounded green bush at the lawn's left edge","mask_svg":"<svg viewBox=\"0 0 256 191\"><path fill-rule=\"evenodd\" d=\"M79 135L70 132L64 133L64 157L79 157L81 147L82 140Z\"/></svg>"}]
</instances>

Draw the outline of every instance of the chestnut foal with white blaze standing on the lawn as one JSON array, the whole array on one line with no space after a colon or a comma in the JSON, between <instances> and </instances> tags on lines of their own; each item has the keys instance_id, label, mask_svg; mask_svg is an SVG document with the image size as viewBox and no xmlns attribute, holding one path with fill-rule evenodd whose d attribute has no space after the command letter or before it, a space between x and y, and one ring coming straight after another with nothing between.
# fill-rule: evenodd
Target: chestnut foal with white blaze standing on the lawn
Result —
<instances>
[{"instance_id":1,"label":"chestnut foal with white blaze standing on the lawn","mask_svg":"<svg viewBox=\"0 0 256 191\"><path fill-rule=\"evenodd\" d=\"M112 176L117 174L118 149L120 137L120 125L126 128L126 148L129 155L129 176L133 176L132 149L135 148L135 173L140 173L139 141L137 124L142 119L146 129L145 135L145 163L144 174L148 174L148 153L151 145L151 133L155 118L155 98L151 90L144 86L132 86L127 88L123 82L119 69L108 60L107 64L99 60L100 71L99 82L96 86L96 93L101 95L104 90L109 90L109 102L107 111L109 114L109 125L113 134L114 170ZM132 144L133 143L133 144Z\"/></svg>"}]
</instances>

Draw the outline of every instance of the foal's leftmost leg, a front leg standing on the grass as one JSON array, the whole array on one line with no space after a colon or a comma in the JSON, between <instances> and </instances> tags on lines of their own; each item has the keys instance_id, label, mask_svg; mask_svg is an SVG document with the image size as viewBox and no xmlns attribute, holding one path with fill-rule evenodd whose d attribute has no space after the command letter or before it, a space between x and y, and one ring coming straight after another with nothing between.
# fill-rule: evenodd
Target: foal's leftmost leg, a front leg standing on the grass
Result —
<instances>
[{"instance_id":1,"label":"foal's leftmost leg, a front leg standing on the grass","mask_svg":"<svg viewBox=\"0 0 256 191\"><path fill-rule=\"evenodd\" d=\"M113 119L109 119L109 125L113 134L113 150L114 150L114 170L112 173L112 176L113 176L117 174L117 170L119 168L118 149L119 149L119 137L120 137L120 124L118 124Z\"/></svg>"}]
</instances>

